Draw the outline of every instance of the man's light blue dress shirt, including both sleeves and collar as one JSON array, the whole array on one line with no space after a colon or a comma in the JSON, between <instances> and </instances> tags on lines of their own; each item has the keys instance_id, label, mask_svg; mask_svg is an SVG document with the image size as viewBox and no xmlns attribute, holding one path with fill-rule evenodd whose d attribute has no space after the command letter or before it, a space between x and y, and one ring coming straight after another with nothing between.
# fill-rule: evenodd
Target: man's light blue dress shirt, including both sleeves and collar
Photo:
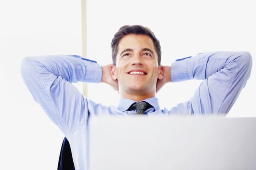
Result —
<instances>
[{"instance_id":1,"label":"man's light blue dress shirt, including both sleeves and collar","mask_svg":"<svg viewBox=\"0 0 256 170\"><path fill-rule=\"evenodd\" d=\"M171 64L172 82L201 79L189 101L171 110L161 109L157 98L146 99L152 115L225 115L250 77L252 57L248 52L207 52ZM100 65L76 55L26 57L21 73L24 82L49 118L63 131L71 145L76 170L88 170L88 121L95 116L134 115L127 111L135 102L120 99L118 107L103 106L81 94L71 83L99 83ZM170 96L171 97L171 96Z\"/></svg>"}]
</instances>

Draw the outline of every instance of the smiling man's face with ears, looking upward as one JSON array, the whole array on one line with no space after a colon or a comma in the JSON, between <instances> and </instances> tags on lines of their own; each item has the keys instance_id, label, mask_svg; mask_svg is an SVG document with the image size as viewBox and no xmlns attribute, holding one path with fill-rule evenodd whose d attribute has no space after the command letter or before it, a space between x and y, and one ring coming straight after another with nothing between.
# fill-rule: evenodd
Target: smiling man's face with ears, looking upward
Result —
<instances>
[{"instance_id":1,"label":"smiling man's face with ears, looking upward","mask_svg":"<svg viewBox=\"0 0 256 170\"><path fill-rule=\"evenodd\" d=\"M119 44L112 78L118 80L121 97L156 94L157 79L162 79L162 66L152 39L147 35L129 34Z\"/></svg>"}]
</instances>

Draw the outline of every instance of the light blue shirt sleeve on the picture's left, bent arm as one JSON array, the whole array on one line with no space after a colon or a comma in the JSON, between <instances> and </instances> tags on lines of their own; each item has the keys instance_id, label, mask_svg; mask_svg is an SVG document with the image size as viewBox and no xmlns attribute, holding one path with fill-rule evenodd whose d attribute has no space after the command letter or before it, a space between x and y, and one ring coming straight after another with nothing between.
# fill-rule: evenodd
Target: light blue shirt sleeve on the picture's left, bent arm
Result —
<instances>
[{"instance_id":1,"label":"light blue shirt sleeve on the picture's left, bent arm","mask_svg":"<svg viewBox=\"0 0 256 170\"><path fill-rule=\"evenodd\" d=\"M71 83L99 83L101 67L76 55L26 57L21 74L36 102L69 137L88 118L87 99Z\"/></svg>"}]
</instances>

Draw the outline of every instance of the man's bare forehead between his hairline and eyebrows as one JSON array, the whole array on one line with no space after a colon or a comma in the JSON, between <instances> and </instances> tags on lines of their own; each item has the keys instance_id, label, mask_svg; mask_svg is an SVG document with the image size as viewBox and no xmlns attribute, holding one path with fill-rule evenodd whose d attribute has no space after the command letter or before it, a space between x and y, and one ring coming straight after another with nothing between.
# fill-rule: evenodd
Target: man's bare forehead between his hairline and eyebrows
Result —
<instances>
[{"instance_id":1,"label":"man's bare forehead between his hairline and eyebrows","mask_svg":"<svg viewBox=\"0 0 256 170\"><path fill-rule=\"evenodd\" d=\"M136 35L129 34L119 41L118 43L118 52L130 48L133 50L140 50L142 48L150 48L151 50L155 50L154 43L152 39L148 35Z\"/></svg>"}]
</instances>

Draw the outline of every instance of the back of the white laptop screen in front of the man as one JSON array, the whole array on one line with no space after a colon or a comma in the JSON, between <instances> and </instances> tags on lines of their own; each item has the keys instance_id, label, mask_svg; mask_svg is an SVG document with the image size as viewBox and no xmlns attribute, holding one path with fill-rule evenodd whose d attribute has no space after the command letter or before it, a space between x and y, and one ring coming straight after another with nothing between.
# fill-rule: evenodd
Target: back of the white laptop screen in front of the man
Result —
<instances>
[{"instance_id":1,"label":"back of the white laptop screen in front of the man","mask_svg":"<svg viewBox=\"0 0 256 170\"><path fill-rule=\"evenodd\" d=\"M256 118L98 117L89 134L90 170L256 170Z\"/></svg>"}]
</instances>

